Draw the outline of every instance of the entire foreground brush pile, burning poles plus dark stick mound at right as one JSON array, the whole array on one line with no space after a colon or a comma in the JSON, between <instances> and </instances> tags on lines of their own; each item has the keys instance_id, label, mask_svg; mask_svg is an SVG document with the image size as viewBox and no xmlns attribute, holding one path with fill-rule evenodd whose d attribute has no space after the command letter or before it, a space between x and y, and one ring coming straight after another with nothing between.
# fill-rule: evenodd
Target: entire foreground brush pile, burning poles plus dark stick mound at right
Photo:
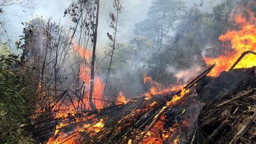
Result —
<instances>
[{"instance_id":1,"label":"entire foreground brush pile, burning poles plus dark stick mound at right","mask_svg":"<svg viewBox=\"0 0 256 144\"><path fill-rule=\"evenodd\" d=\"M25 127L43 143L253 143L255 68L206 76L213 67L177 92Z\"/></svg>"}]
</instances>

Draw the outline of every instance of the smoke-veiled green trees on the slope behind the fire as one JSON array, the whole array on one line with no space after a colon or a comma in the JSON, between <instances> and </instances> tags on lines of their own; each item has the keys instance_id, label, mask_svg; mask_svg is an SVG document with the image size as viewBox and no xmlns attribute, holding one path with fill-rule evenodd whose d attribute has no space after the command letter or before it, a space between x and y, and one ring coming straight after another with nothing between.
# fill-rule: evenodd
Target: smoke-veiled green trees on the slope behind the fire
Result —
<instances>
[{"instance_id":1,"label":"smoke-veiled green trees on the slope behind the fire","mask_svg":"<svg viewBox=\"0 0 256 144\"><path fill-rule=\"evenodd\" d=\"M223 0L208 12L198 6L186 9L180 1L155 0L148 18L135 25L137 37L126 46L129 52L123 57L144 63L144 73L169 85L175 82L175 72L195 65L205 67L202 53L213 57L222 54L218 38L233 26L230 13L239 11L238 4L255 11L255 1L249 0ZM167 70L170 66L175 72Z\"/></svg>"}]
</instances>

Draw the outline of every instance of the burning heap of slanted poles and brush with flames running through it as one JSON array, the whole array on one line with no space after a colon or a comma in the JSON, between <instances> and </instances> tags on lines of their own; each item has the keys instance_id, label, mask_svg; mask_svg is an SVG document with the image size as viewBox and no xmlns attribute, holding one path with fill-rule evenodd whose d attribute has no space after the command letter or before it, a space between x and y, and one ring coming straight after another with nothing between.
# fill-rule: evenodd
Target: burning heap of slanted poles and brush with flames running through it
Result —
<instances>
[{"instance_id":1,"label":"burning heap of slanted poles and brush with flames running through it","mask_svg":"<svg viewBox=\"0 0 256 144\"><path fill-rule=\"evenodd\" d=\"M177 143L188 142L197 125L200 102L194 86L214 67L206 68L179 91L139 97L98 111L45 118L33 125L44 143ZM50 139L49 139L50 138Z\"/></svg>"}]
</instances>

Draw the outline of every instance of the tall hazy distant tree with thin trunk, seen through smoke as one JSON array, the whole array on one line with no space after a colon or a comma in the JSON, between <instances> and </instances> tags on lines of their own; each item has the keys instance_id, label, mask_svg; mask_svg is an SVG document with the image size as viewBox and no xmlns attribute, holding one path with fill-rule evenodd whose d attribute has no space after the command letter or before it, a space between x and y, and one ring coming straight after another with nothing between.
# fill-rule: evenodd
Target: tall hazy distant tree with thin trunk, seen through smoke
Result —
<instances>
[{"instance_id":1,"label":"tall hazy distant tree with thin trunk, seen through smoke","mask_svg":"<svg viewBox=\"0 0 256 144\"><path fill-rule=\"evenodd\" d=\"M161 71L160 53L166 47L170 37L174 35L175 28L180 22L181 16L186 12L185 4L179 0L154 0L147 13L146 20L135 25L134 33L137 36L146 37L154 43L154 53L151 57L151 73L157 79Z\"/></svg>"}]
</instances>

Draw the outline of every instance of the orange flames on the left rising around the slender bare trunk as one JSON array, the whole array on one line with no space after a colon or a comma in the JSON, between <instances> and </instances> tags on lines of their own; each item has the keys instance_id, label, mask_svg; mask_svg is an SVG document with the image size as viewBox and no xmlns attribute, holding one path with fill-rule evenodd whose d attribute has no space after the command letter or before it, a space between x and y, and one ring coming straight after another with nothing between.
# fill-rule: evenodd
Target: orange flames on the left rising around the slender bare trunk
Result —
<instances>
[{"instance_id":1,"label":"orange flames on the left rising around the slender bare trunk","mask_svg":"<svg viewBox=\"0 0 256 144\"><path fill-rule=\"evenodd\" d=\"M89 91L90 91L90 60L91 60L91 52L87 49L79 45L73 46L74 51L79 53L79 57L83 59L81 65L79 65L79 78L83 83L83 88L81 89L81 96L83 97L83 110L90 110L89 105ZM103 108L104 103L101 100L101 96L103 94L103 87L101 79L97 76L94 77L94 90L93 90L93 102L94 105L101 109ZM123 92L119 92L118 102L127 103L128 101L125 99ZM78 102L78 99L72 99L72 105L61 105L60 102L56 103L54 106L55 108L60 106L60 109L68 109L68 111L58 111L55 118L61 119L61 123L56 126L54 135L48 140L47 144L70 144L70 143L79 143L79 139L81 137L81 133L87 133L90 137L93 137L94 134L97 134L101 131L102 127L105 125L103 123L103 119L98 121L94 115L86 116L84 115L83 118L77 118L75 109L78 106L78 103L82 103L81 101ZM74 122L70 122L69 119L72 117ZM87 121L90 121L89 123ZM86 124L81 125L82 123L86 122ZM71 126L71 124L76 124L77 126ZM71 133L62 133L61 129L63 127L70 126Z\"/></svg>"}]
</instances>

